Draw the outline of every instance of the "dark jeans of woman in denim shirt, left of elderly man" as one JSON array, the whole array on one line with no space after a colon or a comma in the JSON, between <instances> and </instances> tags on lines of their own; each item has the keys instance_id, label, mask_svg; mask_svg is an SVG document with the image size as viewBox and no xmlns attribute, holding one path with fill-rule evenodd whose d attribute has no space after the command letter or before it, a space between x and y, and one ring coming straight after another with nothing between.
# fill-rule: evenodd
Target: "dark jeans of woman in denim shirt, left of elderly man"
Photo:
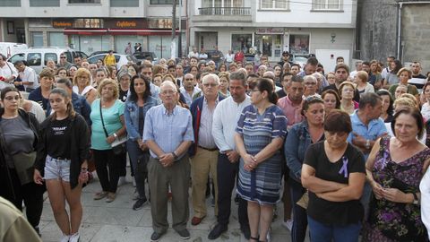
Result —
<instances>
[{"instance_id":1,"label":"dark jeans of woman in denim shirt, left of elderly man","mask_svg":"<svg viewBox=\"0 0 430 242\"><path fill-rule=\"evenodd\" d=\"M132 163L134 180L136 182L137 194L139 199L146 199L145 195L145 179L148 177L147 164L150 159L148 151L142 151L139 144L132 140L127 140L127 151Z\"/></svg>"}]
</instances>

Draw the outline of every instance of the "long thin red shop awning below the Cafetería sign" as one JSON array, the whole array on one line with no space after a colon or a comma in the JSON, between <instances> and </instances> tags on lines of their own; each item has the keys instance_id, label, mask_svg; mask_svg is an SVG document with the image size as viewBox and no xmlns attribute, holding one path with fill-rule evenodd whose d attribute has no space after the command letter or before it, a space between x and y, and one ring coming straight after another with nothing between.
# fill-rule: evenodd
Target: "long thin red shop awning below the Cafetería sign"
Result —
<instances>
[{"instance_id":1,"label":"long thin red shop awning below the Cafeter\u00eda sign","mask_svg":"<svg viewBox=\"0 0 430 242\"><path fill-rule=\"evenodd\" d=\"M176 30L176 34L179 30ZM99 29L99 30L64 30L65 35L171 35L171 30L151 30L151 29L139 29L139 30L119 30L119 29Z\"/></svg>"}]
</instances>

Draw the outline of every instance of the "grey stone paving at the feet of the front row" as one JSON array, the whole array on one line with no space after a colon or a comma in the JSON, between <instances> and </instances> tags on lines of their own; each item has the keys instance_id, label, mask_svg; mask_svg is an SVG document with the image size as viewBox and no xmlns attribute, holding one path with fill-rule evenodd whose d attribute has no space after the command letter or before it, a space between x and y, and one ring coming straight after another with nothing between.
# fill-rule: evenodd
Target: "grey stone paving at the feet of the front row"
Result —
<instances>
[{"instance_id":1,"label":"grey stone paving at the feet of the front row","mask_svg":"<svg viewBox=\"0 0 430 242\"><path fill-rule=\"evenodd\" d=\"M131 177L127 177L131 181ZM150 241L152 233L150 204L145 204L140 211L133 211L133 192L132 183L120 186L117 191L116 200L113 203L106 203L105 199L94 201L93 194L100 189L99 181L96 179L86 186L82 191L83 218L80 229L81 242L133 242L133 241ZM191 194L191 189L190 189ZM240 233L239 223L237 221L237 206L232 202L232 215L228 232L224 233L217 240L209 240L208 234L210 229L216 223L211 207L211 198L207 199L208 215L198 226L191 225L193 210L190 198L190 221L187 228L190 230L191 238L183 240L174 229L168 229L159 241L246 241ZM170 203L168 207L168 221L171 225ZM278 204L278 214L282 217L282 204ZM290 241L288 229L281 226L281 218L276 219L271 225L271 241ZM43 214L40 221L40 231L42 239L45 242L56 242L61 238L61 231L56 226L56 221L52 209L47 199L44 203Z\"/></svg>"}]
</instances>

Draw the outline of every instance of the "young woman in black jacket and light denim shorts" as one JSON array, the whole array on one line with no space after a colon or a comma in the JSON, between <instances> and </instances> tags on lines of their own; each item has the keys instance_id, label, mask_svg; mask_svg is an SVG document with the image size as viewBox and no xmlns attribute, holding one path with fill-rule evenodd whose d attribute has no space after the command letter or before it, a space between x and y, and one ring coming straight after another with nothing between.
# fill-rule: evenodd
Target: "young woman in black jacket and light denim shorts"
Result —
<instances>
[{"instance_id":1,"label":"young woman in black jacket and light denim shorts","mask_svg":"<svg viewBox=\"0 0 430 242\"><path fill-rule=\"evenodd\" d=\"M63 232L61 241L75 242L79 241L82 220L82 185L88 180L90 133L85 119L74 112L66 91L52 90L49 103L54 113L41 124L34 181L42 185L42 180L46 180L56 223ZM70 218L64 197L70 207Z\"/></svg>"}]
</instances>

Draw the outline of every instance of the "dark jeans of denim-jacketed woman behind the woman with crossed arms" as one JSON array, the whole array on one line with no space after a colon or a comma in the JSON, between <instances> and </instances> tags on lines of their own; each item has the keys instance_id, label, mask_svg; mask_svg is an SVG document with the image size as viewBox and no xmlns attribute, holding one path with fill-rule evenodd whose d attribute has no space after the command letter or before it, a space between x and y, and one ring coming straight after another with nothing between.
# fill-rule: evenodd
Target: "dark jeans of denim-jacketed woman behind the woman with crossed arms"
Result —
<instances>
[{"instance_id":1,"label":"dark jeans of denim-jacketed woman behind the woman with crossed arms","mask_svg":"<svg viewBox=\"0 0 430 242\"><path fill-rule=\"evenodd\" d=\"M291 204L293 206L293 228L291 228L291 241L303 242L306 237L307 212L297 205L298 200L305 194L305 188L296 180L289 178L289 190L291 191Z\"/></svg>"}]
</instances>

